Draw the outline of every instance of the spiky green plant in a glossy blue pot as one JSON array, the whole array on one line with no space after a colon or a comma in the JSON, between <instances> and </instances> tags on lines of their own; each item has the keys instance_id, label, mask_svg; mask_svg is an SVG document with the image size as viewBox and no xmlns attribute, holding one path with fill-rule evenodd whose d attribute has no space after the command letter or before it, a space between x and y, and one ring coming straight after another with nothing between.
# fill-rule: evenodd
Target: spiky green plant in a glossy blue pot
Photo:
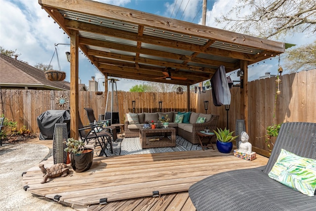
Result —
<instances>
[{"instance_id":1,"label":"spiky green plant in a glossy blue pot","mask_svg":"<svg viewBox=\"0 0 316 211\"><path fill-rule=\"evenodd\" d=\"M230 153L233 149L232 141L238 137L238 135L232 136L235 131L230 132L230 130L226 129L226 127L224 130L217 127L217 131L213 131L217 137L216 147L218 151L221 153Z\"/></svg>"}]
</instances>

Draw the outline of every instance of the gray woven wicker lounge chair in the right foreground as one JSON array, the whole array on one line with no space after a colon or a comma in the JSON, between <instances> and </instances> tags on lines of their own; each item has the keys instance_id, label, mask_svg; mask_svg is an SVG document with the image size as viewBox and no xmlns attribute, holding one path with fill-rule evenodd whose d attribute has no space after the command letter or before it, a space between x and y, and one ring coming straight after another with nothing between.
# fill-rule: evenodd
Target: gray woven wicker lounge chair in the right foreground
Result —
<instances>
[{"instance_id":1,"label":"gray woven wicker lounge chair in the right foreground","mask_svg":"<svg viewBox=\"0 0 316 211\"><path fill-rule=\"evenodd\" d=\"M316 196L306 196L270 178L281 149L316 159L316 123L283 123L265 167L218 173L193 184L197 211L315 211Z\"/></svg>"}]
</instances>

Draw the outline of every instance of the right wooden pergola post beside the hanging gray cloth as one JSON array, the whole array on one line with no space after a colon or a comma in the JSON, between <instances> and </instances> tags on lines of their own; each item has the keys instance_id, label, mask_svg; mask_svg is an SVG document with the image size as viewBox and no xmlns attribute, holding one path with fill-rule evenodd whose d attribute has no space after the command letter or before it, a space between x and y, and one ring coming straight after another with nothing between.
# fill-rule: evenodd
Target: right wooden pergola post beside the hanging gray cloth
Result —
<instances>
[{"instance_id":1,"label":"right wooden pergola post beside the hanging gray cloth","mask_svg":"<svg viewBox=\"0 0 316 211\"><path fill-rule=\"evenodd\" d=\"M245 120L246 131L248 131L248 62L240 61L240 70L243 71L243 76L240 76L240 119ZM241 84L242 83L242 84Z\"/></svg>"}]
</instances>

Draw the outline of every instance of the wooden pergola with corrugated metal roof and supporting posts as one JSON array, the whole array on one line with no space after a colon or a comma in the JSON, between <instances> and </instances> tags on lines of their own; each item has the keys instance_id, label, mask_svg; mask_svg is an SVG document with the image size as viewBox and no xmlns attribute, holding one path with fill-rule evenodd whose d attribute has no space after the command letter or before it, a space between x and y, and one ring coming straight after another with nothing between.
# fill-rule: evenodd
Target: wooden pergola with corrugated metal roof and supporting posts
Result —
<instances>
[{"instance_id":1,"label":"wooden pergola with corrugated metal roof and supporting posts","mask_svg":"<svg viewBox=\"0 0 316 211\"><path fill-rule=\"evenodd\" d=\"M210 79L220 65L225 66L226 73L240 69L244 73L240 78L243 83L240 119L245 122L248 65L285 51L283 42L96 1L39 0L39 3L70 37L71 136L74 138L78 138L79 48L106 79L181 84L188 90L190 85Z\"/></svg>"}]
</instances>

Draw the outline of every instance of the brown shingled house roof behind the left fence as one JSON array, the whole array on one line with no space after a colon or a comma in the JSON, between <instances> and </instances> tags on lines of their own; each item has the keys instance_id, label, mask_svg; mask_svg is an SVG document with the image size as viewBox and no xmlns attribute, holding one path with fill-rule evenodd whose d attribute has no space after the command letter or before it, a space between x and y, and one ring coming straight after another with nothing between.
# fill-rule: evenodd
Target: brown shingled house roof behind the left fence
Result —
<instances>
[{"instance_id":1,"label":"brown shingled house roof behind the left fence","mask_svg":"<svg viewBox=\"0 0 316 211\"><path fill-rule=\"evenodd\" d=\"M0 54L0 76L1 87L70 90L68 82L48 81L43 71L3 54Z\"/></svg>"}]
</instances>

